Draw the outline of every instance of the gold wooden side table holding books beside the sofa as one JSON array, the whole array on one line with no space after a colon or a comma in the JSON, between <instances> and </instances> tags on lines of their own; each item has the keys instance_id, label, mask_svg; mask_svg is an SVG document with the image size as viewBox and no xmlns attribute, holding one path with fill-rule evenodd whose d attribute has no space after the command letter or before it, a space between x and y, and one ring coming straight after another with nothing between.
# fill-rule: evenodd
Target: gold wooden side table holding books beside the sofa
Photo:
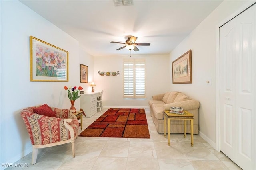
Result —
<instances>
[{"instance_id":1,"label":"gold wooden side table holding books beside the sofa","mask_svg":"<svg viewBox=\"0 0 256 170\"><path fill-rule=\"evenodd\" d=\"M189 113L188 111L184 111L183 115L170 113L169 110L164 111L164 137L166 137L166 119L168 121L168 145L170 146L170 126L171 120L184 120L184 138L186 138L186 130L187 130L187 120L190 120L190 133L191 133L191 147L193 147L193 123L194 123L194 115Z\"/></svg>"}]
</instances>

